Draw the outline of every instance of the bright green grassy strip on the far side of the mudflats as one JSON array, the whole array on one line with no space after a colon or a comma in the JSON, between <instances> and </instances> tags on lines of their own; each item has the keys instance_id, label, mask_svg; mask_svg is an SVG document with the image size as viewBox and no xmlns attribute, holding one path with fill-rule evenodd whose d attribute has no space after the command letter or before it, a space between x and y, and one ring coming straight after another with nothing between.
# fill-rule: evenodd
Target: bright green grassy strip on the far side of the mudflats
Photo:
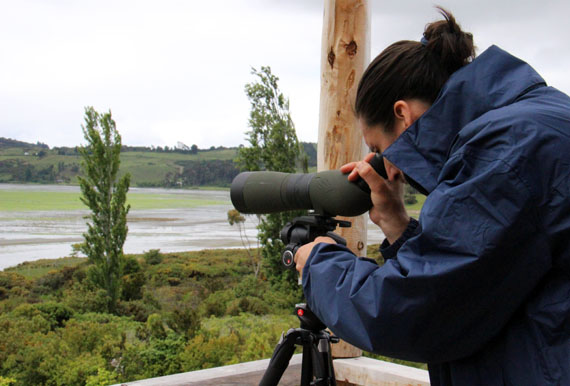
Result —
<instances>
[{"instance_id":1,"label":"bright green grassy strip on the far side of the mudflats","mask_svg":"<svg viewBox=\"0 0 570 386\"><path fill-rule=\"evenodd\" d=\"M79 192L28 192L0 190L0 212L38 210L81 210L87 207L79 200ZM204 205L227 204L227 201L189 198L183 194L129 193L131 209L185 209Z\"/></svg>"}]
</instances>

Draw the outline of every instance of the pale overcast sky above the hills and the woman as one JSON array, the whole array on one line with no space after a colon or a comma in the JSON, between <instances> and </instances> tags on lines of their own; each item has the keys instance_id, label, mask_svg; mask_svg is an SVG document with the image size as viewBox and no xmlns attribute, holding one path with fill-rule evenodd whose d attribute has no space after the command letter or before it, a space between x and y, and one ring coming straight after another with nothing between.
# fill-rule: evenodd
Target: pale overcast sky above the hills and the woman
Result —
<instances>
[{"instance_id":1,"label":"pale overcast sky above the hills and the woman","mask_svg":"<svg viewBox=\"0 0 570 386\"><path fill-rule=\"evenodd\" d=\"M419 40L431 1L369 0L371 58ZM323 0L0 0L0 136L83 143L85 106L127 145L245 143L251 67L270 66L302 141L316 142ZM570 93L570 1L436 2Z\"/></svg>"}]
</instances>

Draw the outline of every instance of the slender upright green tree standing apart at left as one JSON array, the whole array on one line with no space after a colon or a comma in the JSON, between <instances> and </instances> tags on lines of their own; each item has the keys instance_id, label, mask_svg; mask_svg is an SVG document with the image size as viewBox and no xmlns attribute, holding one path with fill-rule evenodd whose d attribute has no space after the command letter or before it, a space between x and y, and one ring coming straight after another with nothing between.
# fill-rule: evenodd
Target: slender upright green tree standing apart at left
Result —
<instances>
[{"instance_id":1,"label":"slender upright green tree standing apart at left","mask_svg":"<svg viewBox=\"0 0 570 386\"><path fill-rule=\"evenodd\" d=\"M109 311L114 312L121 291L130 175L118 177L121 136L111 112L99 114L87 107L82 129L87 145L79 152L85 176L78 179L81 201L91 210L91 223L83 234L81 251L93 263L90 279L106 291Z\"/></svg>"}]
</instances>

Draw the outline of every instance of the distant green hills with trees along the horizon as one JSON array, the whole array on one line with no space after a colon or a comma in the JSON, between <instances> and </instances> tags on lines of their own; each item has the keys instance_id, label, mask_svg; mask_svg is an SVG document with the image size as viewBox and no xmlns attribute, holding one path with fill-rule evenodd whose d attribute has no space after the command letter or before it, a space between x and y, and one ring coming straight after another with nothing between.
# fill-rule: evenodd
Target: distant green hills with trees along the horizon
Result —
<instances>
[{"instance_id":1,"label":"distant green hills with trees along the horizon","mask_svg":"<svg viewBox=\"0 0 570 386\"><path fill-rule=\"evenodd\" d=\"M316 166L315 144L303 143L309 166ZM229 186L239 173L238 148L132 147L121 149L121 171L134 186ZM76 147L54 147L0 137L0 182L76 184L81 159Z\"/></svg>"}]
</instances>

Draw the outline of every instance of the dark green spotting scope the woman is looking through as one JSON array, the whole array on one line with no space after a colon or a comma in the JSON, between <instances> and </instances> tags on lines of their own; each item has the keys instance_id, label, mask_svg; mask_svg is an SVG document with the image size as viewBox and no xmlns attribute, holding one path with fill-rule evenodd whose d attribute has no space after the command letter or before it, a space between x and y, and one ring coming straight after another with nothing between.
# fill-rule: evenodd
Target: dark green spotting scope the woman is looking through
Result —
<instances>
[{"instance_id":1,"label":"dark green spotting scope the woman is looking through","mask_svg":"<svg viewBox=\"0 0 570 386\"><path fill-rule=\"evenodd\" d=\"M386 178L384 161L377 154L370 164ZM340 170L318 173L243 172L230 189L234 207L241 213L267 214L312 209L323 216L358 216L372 207L370 188L359 179L348 181Z\"/></svg>"}]
</instances>

